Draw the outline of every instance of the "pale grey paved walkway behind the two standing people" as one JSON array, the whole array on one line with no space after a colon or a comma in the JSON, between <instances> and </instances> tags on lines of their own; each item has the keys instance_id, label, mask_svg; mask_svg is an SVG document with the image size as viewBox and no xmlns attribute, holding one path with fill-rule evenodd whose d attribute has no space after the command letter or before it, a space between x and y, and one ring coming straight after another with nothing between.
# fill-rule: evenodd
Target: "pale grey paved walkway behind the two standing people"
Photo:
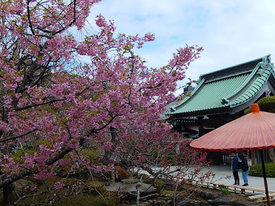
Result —
<instances>
[{"instance_id":1,"label":"pale grey paved walkway behind the two standing people","mask_svg":"<svg viewBox=\"0 0 275 206\"><path fill-rule=\"evenodd\" d=\"M215 176L213 181L217 183L233 184L234 176L231 171L230 165L210 165L210 168L204 168L203 172L212 171ZM227 178L227 176L230 176ZM239 172L240 185L243 185L243 178L241 172ZM249 187L259 188L265 190L263 177L248 175ZM275 191L275 178L267 177L268 190Z\"/></svg>"}]
</instances>

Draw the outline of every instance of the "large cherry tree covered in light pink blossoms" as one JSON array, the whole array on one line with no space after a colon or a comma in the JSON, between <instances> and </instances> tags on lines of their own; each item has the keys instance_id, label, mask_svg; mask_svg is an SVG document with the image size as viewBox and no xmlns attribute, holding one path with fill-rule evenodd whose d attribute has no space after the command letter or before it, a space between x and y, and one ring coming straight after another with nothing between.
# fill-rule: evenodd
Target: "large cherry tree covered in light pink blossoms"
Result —
<instances>
[{"instance_id":1,"label":"large cherry tree covered in light pink blossoms","mask_svg":"<svg viewBox=\"0 0 275 206\"><path fill-rule=\"evenodd\" d=\"M13 183L28 176L47 179L56 168L73 172L80 166L113 170L111 162L99 166L80 152L87 142L111 150L106 134L112 128L120 138L129 130L171 128L159 121L160 113L201 47L179 48L166 66L148 68L134 51L154 35L115 36L113 21L101 15L93 25L98 32L80 39L98 1L0 3L0 188L6 205ZM20 157L14 156L16 145L24 147Z\"/></svg>"}]
</instances>

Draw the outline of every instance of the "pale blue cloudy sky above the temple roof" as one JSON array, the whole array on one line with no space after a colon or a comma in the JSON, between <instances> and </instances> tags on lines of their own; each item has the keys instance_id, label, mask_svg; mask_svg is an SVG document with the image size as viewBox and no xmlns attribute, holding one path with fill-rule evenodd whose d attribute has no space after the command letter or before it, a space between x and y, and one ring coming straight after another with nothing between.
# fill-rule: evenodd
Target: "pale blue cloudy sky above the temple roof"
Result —
<instances>
[{"instance_id":1,"label":"pale blue cloudy sky above the temple roof","mask_svg":"<svg viewBox=\"0 0 275 206\"><path fill-rule=\"evenodd\" d=\"M179 47L202 46L186 78L209 73L267 54L275 62L274 0L102 0L91 10L89 22L102 14L113 19L117 32L155 34L138 53L148 67L162 67ZM188 80L179 82L184 84Z\"/></svg>"}]
</instances>

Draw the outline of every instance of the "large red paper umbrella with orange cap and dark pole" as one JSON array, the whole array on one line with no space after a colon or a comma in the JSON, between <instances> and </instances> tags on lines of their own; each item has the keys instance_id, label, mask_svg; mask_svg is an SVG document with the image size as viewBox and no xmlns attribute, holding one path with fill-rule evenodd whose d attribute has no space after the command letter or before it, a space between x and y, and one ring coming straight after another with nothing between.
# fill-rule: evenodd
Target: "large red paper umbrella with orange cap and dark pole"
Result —
<instances>
[{"instance_id":1,"label":"large red paper umbrella with orange cap and dark pole","mask_svg":"<svg viewBox=\"0 0 275 206\"><path fill-rule=\"evenodd\" d=\"M263 149L275 148L274 113L260 111L258 104L252 104L252 113L228 122L228 124L195 139L191 142L190 147L208 151L260 150L267 205L270 205Z\"/></svg>"}]
</instances>

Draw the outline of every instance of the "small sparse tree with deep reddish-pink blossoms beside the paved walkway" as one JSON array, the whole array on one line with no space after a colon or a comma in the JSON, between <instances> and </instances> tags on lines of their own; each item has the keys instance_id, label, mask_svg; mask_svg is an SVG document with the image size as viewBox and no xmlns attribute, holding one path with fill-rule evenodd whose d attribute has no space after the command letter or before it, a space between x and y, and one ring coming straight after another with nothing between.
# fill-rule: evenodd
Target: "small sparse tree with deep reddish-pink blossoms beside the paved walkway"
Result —
<instances>
[{"instance_id":1,"label":"small sparse tree with deep reddish-pink blossoms beside the paved walkway","mask_svg":"<svg viewBox=\"0 0 275 206\"><path fill-rule=\"evenodd\" d=\"M129 133L127 137L118 138L116 163L130 173L139 174L140 182L162 179L177 185L173 188L173 198L190 195L192 185L188 183L193 179L210 179L212 172L202 172L210 163L206 161L206 152L192 150L189 144L190 139L171 130L147 135Z\"/></svg>"}]
</instances>

